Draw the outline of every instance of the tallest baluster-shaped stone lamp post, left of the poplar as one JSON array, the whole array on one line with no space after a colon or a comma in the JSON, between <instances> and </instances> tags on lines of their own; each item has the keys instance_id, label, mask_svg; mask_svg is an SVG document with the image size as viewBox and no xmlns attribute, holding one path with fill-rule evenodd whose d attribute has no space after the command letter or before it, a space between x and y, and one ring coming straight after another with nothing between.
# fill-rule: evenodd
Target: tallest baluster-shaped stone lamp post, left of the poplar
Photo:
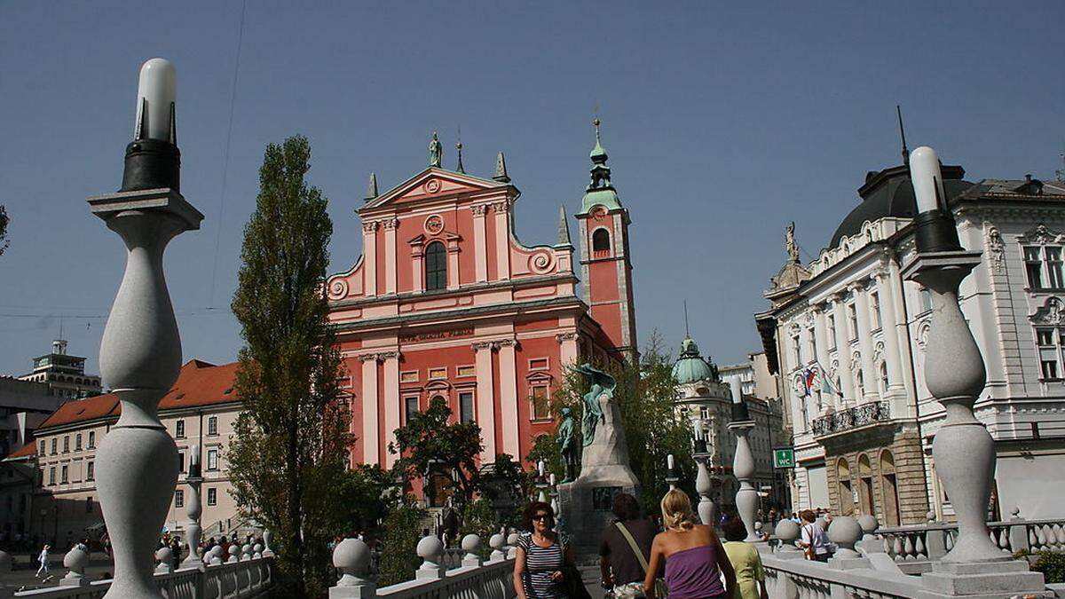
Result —
<instances>
[{"instance_id":1,"label":"tallest baluster-shaped stone lamp post, left of the poplar","mask_svg":"<svg viewBox=\"0 0 1065 599\"><path fill-rule=\"evenodd\" d=\"M174 67L141 69L136 139L121 191L91 197L94 214L127 247L126 273L100 343L100 374L121 402L96 454L96 486L115 578L105 597L160 597L152 551L178 479L178 450L157 414L181 368L181 340L163 276L166 244L203 218L179 193ZM149 115L151 115L149 117Z\"/></svg>"}]
</instances>

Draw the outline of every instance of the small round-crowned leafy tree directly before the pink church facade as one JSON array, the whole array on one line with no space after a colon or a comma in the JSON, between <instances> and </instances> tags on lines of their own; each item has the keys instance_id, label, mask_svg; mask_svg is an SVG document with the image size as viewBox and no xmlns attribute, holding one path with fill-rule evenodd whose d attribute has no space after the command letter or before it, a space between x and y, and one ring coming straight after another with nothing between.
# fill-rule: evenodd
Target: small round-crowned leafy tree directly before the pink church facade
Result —
<instances>
[{"instance_id":1,"label":"small round-crowned leafy tree directly before the pink church facade","mask_svg":"<svg viewBox=\"0 0 1065 599\"><path fill-rule=\"evenodd\" d=\"M442 398L436 398L425 411L409 415L407 424L396 428L396 442L389 451L399 455L395 468L407 480L421 479L426 484L433 475L453 481L455 501L461 508L480 489L477 456L480 426L474 422L448 422L452 410Z\"/></svg>"}]
</instances>

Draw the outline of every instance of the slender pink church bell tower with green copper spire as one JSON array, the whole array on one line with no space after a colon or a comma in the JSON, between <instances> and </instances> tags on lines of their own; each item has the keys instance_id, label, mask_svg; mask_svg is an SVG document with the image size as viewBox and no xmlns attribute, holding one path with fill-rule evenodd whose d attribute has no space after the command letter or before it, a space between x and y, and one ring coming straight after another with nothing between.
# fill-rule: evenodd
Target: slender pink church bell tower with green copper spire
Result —
<instances>
[{"instance_id":1,"label":"slender pink church bell tower with green copper spire","mask_svg":"<svg viewBox=\"0 0 1065 599\"><path fill-rule=\"evenodd\" d=\"M615 350L629 362L639 354L633 305L633 263L628 256L628 210L610 182L607 155L595 125L591 182L577 213L584 301Z\"/></svg>"}]
</instances>

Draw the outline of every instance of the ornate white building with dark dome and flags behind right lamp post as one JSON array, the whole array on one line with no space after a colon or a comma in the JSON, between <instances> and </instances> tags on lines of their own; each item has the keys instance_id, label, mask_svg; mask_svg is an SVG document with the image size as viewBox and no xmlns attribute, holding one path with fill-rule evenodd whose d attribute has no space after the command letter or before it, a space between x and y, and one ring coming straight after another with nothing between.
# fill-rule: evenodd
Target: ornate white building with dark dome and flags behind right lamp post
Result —
<instances>
[{"instance_id":1,"label":"ornate white building with dark dome and flags behind right lamp post","mask_svg":"<svg viewBox=\"0 0 1065 599\"><path fill-rule=\"evenodd\" d=\"M904 153L905 156L905 153ZM987 367L977 416L995 438L995 517L1061 516L1065 493L1065 183L963 179L944 166L966 249L983 264L965 279L962 310ZM793 430L796 508L873 514L916 523L951 518L931 441L943 408L924 386L930 295L904 281L914 256L908 167L869 173L862 201L829 247L772 279L755 315L783 378Z\"/></svg>"}]
</instances>

